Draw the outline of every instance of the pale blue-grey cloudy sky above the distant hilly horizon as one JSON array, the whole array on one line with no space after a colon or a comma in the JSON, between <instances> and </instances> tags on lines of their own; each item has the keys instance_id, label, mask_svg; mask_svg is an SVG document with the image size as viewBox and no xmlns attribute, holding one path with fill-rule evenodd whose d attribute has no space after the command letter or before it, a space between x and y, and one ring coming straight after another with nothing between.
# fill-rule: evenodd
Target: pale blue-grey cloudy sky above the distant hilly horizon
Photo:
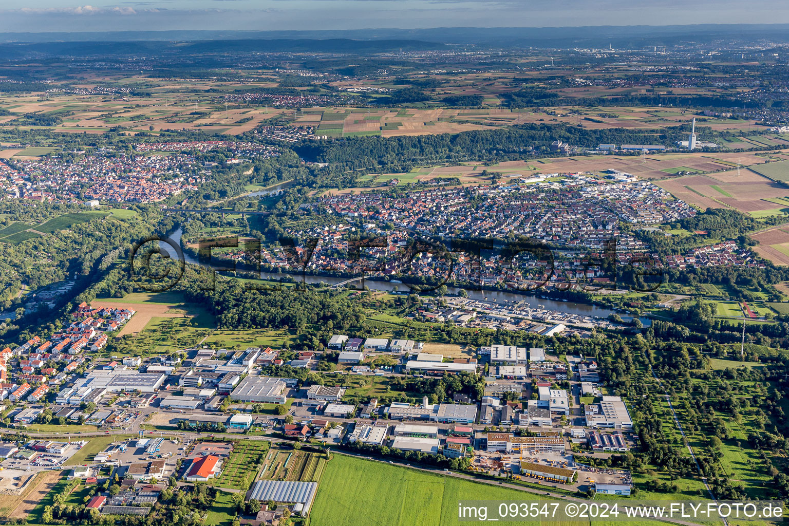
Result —
<instances>
[{"instance_id":1,"label":"pale blue-grey cloudy sky above the distant hilly horizon","mask_svg":"<svg viewBox=\"0 0 789 526\"><path fill-rule=\"evenodd\" d=\"M787 0L0 0L0 32L789 23Z\"/></svg>"}]
</instances>

